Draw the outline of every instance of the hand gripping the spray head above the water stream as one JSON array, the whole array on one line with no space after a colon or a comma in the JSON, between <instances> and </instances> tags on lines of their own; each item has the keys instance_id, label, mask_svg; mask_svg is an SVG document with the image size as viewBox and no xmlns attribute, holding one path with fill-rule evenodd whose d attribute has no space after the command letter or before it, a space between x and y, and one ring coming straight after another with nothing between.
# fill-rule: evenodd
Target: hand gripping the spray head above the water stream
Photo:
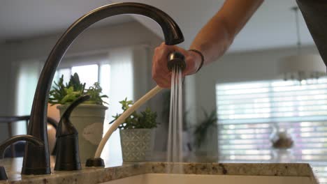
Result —
<instances>
[{"instance_id":1,"label":"hand gripping the spray head above the water stream","mask_svg":"<svg viewBox=\"0 0 327 184\"><path fill-rule=\"evenodd\" d=\"M152 78L161 88L170 88L171 72L167 68L167 63L168 55L172 52L180 52L185 56L186 68L182 71L182 77L194 74L201 65L200 54L187 51L176 45L161 43L159 47L154 49L152 59Z\"/></svg>"}]
</instances>

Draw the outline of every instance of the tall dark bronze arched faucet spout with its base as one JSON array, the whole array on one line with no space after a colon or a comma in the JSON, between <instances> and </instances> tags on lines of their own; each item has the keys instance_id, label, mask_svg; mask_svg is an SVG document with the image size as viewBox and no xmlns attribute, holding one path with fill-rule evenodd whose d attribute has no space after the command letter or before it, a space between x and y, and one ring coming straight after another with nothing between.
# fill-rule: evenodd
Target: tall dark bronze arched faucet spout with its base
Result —
<instances>
[{"instance_id":1,"label":"tall dark bronze arched faucet spout with its base","mask_svg":"<svg viewBox=\"0 0 327 184\"><path fill-rule=\"evenodd\" d=\"M51 173L47 123L45 121L47 117L47 103L54 72L56 72L57 66L66 50L73 43L73 40L87 27L106 17L121 14L143 15L156 21L163 30L166 45L175 45L184 41L182 31L180 31L180 28L169 15L158 8L143 3L114 3L92 10L80 17L59 38L57 44L54 45L38 80L31 109L31 118L29 119L28 134L41 139L44 146L35 146L29 143L26 145L22 174Z\"/></svg>"}]
</instances>

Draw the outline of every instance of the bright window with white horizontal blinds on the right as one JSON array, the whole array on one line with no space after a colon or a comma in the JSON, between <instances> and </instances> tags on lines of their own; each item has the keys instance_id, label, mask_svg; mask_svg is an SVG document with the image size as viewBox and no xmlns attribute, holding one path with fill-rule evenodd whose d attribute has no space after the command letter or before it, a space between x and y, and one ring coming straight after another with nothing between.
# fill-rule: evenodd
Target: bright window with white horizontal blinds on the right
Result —
<instances>
[{"instance_id":1,"label":"bright window with white horizontal blinds on the right","mask_svg":"<svg viewBox=\"0 0 327 184\"><path fill-rule=\"evenodd\" d=\"M221 162L308 162L327 183L327 78L217 84ZM274 128L294 146L272 148Z\"/></svg>"}]
</instances>

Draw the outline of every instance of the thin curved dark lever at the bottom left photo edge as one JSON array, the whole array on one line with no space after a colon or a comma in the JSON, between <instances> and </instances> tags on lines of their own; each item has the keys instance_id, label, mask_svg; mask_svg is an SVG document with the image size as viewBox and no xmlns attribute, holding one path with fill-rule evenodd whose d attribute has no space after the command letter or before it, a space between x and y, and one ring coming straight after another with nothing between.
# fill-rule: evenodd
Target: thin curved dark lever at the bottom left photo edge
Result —
<instances>
[{"instance_id":1,"label":"thin curved dark lever at the bottom left photo edge","mask_svg":"<svg viewBox=\"0 0 327 184\"><path fill-rule=\"evenodd\" d=\"M13 144L17 141L29 141L31 144L35 144L38 146L44 146L44 143L41 139L38 139L37 137L31 136L31 135L16 135L14 137L10 137L9 139L7 139L6 141L3 141L0 145L0 158L3 159L3 154L4 151L6 151L6 148L8 148L8 146L10 144ZM0 181L2 180L7 180L7 174L6 174L6 170L3 166L0 166Z\"/></svg>"}]
</instances>

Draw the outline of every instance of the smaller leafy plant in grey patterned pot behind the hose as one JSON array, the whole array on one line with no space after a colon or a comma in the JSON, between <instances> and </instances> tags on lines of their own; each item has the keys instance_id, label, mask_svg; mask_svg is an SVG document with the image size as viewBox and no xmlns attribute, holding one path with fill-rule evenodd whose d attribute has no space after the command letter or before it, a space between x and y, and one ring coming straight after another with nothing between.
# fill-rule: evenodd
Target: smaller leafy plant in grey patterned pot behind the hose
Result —
<instances>
[{"instance_id":1,"label":"smaller leafy plant in grey patterned pot behind the hose","mask_svg":"<svg viewBox=\"0 0 327 184\"><path fill-rule=\"evenodd\" d=\"M122 100L124 112L133 105L131 100ZM113 123L121 114L113 116ZM124 162L140 162L152 157L154 147L154 128L157 127L157 112L152 112L149 107L145 111L133 112L119 125L120 143L122 144L122 157Z\"/></svg>"}]
</instances>

